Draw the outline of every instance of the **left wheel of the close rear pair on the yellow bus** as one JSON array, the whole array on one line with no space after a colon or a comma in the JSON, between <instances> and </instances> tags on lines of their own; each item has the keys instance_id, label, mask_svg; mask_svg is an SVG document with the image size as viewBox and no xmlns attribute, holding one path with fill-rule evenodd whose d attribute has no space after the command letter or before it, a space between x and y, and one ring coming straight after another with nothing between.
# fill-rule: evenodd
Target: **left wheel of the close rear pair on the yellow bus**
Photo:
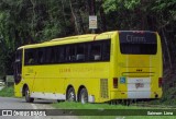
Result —
<instances>
[{"instance_id":1,"label":"left wheel of the close rear pair on the yellow bus","mask_svg":"<svg viewBox=\"0 0 176 119\"><path fill-rule=\"evenodd\" d=\"M67 100L68 102L75 102L76 100L76 95L75 95L75 90L74 87L69 87L67 92Z\"/></svg>"}]
</instances>

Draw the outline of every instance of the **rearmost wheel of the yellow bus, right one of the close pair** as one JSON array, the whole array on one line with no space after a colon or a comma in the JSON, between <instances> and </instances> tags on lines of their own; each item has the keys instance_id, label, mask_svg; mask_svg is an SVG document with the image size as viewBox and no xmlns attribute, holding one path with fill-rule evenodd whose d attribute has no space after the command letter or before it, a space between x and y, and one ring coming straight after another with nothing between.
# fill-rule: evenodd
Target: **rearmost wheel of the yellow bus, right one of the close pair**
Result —
<instances>
[{"instance_id":1,"label":"rearmost wheel of the yellow bus, right one of the close pair","mask_svg":"<svg viewBox=\"0 0 176 119\"><path fill-rule=\"evenodd\" d=\"M81 88L79 94L79 102L81 102L81 104L88 103L88 93L86 88Z\"/></svg>"}]
</instances>

